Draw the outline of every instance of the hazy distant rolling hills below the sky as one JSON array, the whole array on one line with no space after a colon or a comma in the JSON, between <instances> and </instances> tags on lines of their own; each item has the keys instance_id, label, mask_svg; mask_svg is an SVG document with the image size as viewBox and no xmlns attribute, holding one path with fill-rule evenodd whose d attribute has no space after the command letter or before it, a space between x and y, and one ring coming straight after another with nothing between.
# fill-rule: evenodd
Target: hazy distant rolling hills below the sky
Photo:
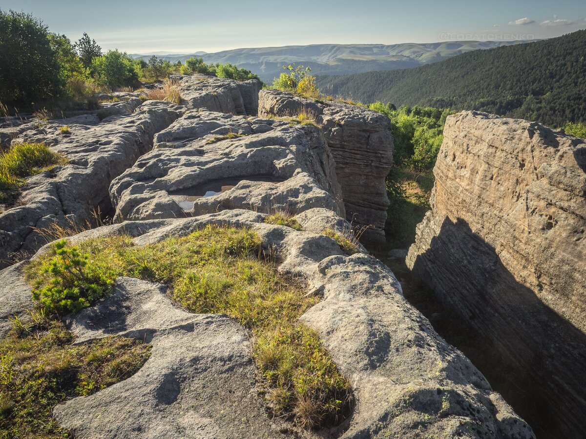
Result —
<instances>
[{"instance_id":1,"label":"hazy distant rolling hills below the sky","mask_svg":"<svg viewBox=\"0 0 586 439\"><path fill-rule=\"evenodd\" d=\"M315 75L343 75L374 70L396 70L434 63L478 49L510 46L522 41L449 41L442 43L403 44L312 44L311 46L258 47L223 52L161 54L159 58L176 63L196 56L206 63L232 63L247 68L265 82L272 82L283 65L303 64ZM148 60L152 54L131 54Z\"/></svg>"}]
</instances>

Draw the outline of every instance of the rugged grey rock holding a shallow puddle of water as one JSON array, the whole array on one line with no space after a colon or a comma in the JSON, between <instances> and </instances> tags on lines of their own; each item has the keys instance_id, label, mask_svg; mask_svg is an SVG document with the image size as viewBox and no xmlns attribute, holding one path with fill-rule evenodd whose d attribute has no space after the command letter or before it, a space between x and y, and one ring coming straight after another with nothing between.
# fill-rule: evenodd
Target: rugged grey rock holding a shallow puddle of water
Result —
<instances>
[{"instance_id":1,"label":"rugged grey rock holding a shallow puddle of water","mask_svg":"<svg viewBox=\"0 0 586 439\"><path fill-rule=\"evenodd\" d=\"M189 113L158 133L155 149L115 179L110 191L117 221L234 208L292 214L344 209L317 128L209 111Z\"/></svg>"}]
</instances>

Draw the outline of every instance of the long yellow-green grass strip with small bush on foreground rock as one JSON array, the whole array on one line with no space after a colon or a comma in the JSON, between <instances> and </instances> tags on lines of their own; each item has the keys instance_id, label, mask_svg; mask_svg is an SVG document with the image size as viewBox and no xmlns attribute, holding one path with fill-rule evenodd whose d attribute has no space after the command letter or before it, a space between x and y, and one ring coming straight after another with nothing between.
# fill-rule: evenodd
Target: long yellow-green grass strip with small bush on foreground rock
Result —
<instances>
[{"instance_id":1,"label":"long yellow-green grass strip with small bush on foreground rock","mask_svg":"<svg viewBox=\"0 0 586 439\"><path fill-rule=\"evenodd\" d=\"M250 229L208 226L145 246L118 235L60 241L33 261L28 278L49 313L77 310L111 289L117 276L161 282L192 313L225 313L249 331L268 409L302 428L332 426L352 409L350 383L318 335L298 318L318 299L282 279Z\"/></svg>"}]
</instances>

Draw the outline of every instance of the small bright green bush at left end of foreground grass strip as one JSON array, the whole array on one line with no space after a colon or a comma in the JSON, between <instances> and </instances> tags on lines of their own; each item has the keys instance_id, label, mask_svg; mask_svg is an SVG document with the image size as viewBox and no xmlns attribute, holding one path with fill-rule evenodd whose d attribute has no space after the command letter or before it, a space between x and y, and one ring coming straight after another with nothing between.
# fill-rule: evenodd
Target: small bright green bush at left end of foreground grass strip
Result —
<instances>
[{"instance_id":1,"label":"small bright green bush at left end of foreground grass strip","mask_svg":"<svg viewBox=\"0 0 586 439\"><path fill-rule=\"evenodd\" d=\"M48 313L77 313L110 291L115 280L112 270L88 263L90 256L68 247L64 239L52 249L54 256L38 267L40 276L32 291L33 299Z\"/></svg>"}]
</instances>

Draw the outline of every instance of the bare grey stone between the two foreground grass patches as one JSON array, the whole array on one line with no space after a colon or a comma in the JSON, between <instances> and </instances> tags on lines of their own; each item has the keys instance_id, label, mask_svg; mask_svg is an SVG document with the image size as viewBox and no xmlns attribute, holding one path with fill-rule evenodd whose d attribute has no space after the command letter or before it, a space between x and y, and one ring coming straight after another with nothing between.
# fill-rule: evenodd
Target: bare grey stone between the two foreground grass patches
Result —
<instances>
[{"instance_id":1,"label":"bare grey stone between the two foreground grass patches","mask_svg":"<svg viewBox=\"0 0 586 439\"><path fill-rule=\"evenodd\" d=\"M54 416L78 438L286 437L255 393L243 328L226 315L190 314L159 284L122 277L107 299L69 320L84 342L124 335L152 344L131 378L57 406Z\"/></svg>"}]
</instances>

